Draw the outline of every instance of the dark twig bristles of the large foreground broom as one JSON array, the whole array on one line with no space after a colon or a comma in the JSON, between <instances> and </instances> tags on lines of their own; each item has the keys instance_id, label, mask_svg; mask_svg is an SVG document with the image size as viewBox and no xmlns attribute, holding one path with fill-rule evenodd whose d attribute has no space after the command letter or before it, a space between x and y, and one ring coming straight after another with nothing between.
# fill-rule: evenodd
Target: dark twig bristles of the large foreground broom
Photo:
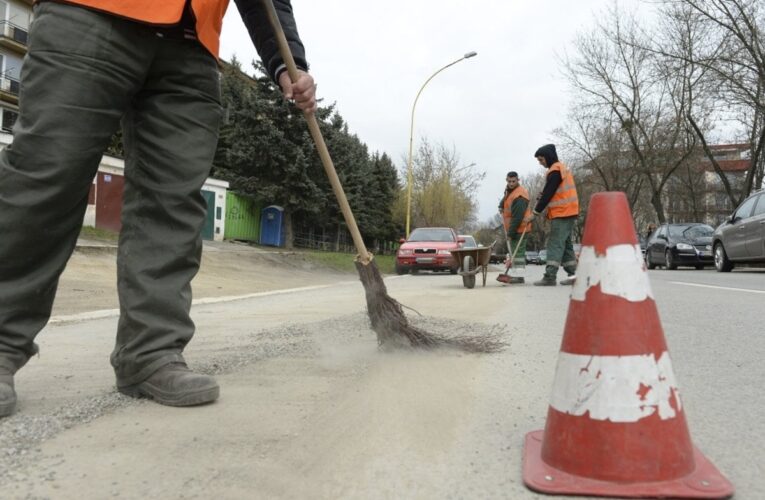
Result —
<instances>
[{"instance_id":1,"label":"dark twig bristles of the large foreground broom","mask_svg":"<svg viewBox=\"0 0 765 500\"><path fill-rule=\"evenodd\" d=\"M383 349L451 347L467 352L497 352L506 344L495 336L444 337L409 324L401 304L388 296L385 282L374 260L368 264L356 261L356 270L364 285L367 311L377 343Z\"/></svg>"}]
</instances>

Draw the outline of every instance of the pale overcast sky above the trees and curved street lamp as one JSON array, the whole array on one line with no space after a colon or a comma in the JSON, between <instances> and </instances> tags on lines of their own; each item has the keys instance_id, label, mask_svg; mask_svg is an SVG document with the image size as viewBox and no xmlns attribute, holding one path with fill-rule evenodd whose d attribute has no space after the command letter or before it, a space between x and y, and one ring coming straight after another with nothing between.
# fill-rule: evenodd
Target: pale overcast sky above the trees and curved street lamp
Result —
<instances>
[{"instance_id":1,"label":"pale overcast sky above the trees and curved street lamp","mask_svg":"<svg viewBox=\"0 0 765 500\"><path fill-rule=\"evenodd\" d=\"M628 2L632 3L632 2ZM318 95L336 103L371 152L406 165L412 103L438 68L415 110L422 137L454 147L486 178L479 220L496 213L505 174L540 171L534 151L553 139L570 98L558 69L578 31L589 29L610 0L293 0ZM257 58L233 2L224 20L221 57L249 70ZM330 151L331 154L331 151ZM565 158L561 158L565 161ZM404 178L405 180L405 178ZM536 193L532 193L532 196Z\"/></svg>"}]
</instances>

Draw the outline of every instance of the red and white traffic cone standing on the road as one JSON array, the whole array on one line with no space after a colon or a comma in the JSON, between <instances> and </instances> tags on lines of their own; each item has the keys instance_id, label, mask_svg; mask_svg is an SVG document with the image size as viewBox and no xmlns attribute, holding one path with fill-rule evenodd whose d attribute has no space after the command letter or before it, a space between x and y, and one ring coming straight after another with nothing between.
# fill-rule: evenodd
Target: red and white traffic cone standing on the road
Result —
<instances>
[{"instance_id":1,"label":"red and white traffic cone standing on the road","mask_svg":"<svg viewBox=\"0 0 765 500\"><path fill-rule=\"evenodd\" d=\"M564 495L727 498L691 443L624 193L590 200L544 431L523 481Z\"/></svg>"}]
</instances>

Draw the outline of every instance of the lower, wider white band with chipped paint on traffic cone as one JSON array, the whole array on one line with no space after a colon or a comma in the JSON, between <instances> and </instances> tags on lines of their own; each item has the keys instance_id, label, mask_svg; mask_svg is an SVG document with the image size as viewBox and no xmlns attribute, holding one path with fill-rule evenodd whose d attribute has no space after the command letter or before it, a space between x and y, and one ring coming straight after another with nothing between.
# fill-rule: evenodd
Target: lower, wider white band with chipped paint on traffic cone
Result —
<instances>
[{"instance_id":1,"label":"lower, wider white band with chipped paint on traffic cone","mask_svg":"<svg viewBox=\"0 0 765 500\"><path fill-rule=\"evenodd\" d=\"M674 405L671 404L674 400ZM593 420L637 422L658 412L675 418L682 409L669 353L589 356L561 352L550 406Z\"/></svg>"}]
</instances>

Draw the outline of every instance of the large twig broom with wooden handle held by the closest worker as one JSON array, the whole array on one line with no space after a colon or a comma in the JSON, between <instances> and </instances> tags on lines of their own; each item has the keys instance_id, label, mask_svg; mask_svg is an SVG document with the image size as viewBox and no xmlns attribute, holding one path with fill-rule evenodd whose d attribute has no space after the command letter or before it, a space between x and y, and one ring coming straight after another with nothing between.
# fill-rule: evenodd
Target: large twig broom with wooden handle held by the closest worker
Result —
<instances>
[{"instance_id":1,"label":"large twig broom with wooden handle held by the closest worker","mask_svg":"<svg viewBox=\"0 0 765 500\"><path fill-rule=\"evenodd\" d=\"M287 44L287 38L284 36L284 30L279 22L276 9L272 0L262 1L268 13L269 22L276 35L279 53L282 59L284 59L284 64L287 66L290 78L294 82L299 76L298 69ZM353 243L356 246L356 251L358 252L355 260L356 270L359 273L361 283L364 285L367 311L372 323L372 329L377 334L378 345L385 348L451 346L469 352L494 352L503 348L504 342L493 336L444 337L425 332L409 324L401 304L388 296L388 291L380 271L375 265L373 256L364 245L364 240L356 225L356 219L353 217L353 212L351 212L351 207L348 205L348 199L345 197L340 179L337 177L332 158L329 156L327 145L324 143L324 137L319 129L319 122L316 116L313 113L303 113L303 115L308 122L311 137L313 137L319 157L324 165L324 170L327 173L327 177L329 177L332 190L340 204L340 210L343 212L345 223L348 226Z\"/></svg>"}]
</instances>

